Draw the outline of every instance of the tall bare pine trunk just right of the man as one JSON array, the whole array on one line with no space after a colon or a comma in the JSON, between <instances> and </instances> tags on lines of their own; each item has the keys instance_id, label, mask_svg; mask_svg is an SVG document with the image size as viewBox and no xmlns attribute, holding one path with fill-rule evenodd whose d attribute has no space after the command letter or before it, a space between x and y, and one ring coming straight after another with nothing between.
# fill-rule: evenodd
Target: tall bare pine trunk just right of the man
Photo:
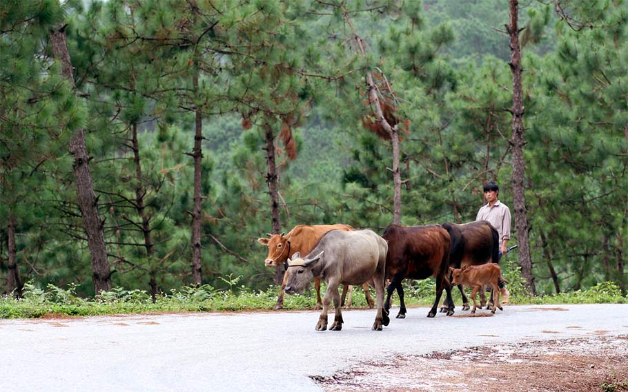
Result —
<instances>
[{"instance_id":1,"label":"tall bare pine trunk just right of the man","mask_svg":"<svg viewBox=\"0 0 628 392\"><path fill-rule=\"evenodd\" d=\"M519 265L521 274L526 280L526 289L534 296L534 277L532 276L532 259L530 256L530 240L525 203L525 164L523 161L523 99L521 85L521 48L519 45L518 28L519 1L510 0L510 24L506 26L510 35L510 68L513 74L513 106L511 114L512 143L513 143L513 205L515 209L515 226L517 229L517 243L519 245Z\"/></svg>"}]
</instances>

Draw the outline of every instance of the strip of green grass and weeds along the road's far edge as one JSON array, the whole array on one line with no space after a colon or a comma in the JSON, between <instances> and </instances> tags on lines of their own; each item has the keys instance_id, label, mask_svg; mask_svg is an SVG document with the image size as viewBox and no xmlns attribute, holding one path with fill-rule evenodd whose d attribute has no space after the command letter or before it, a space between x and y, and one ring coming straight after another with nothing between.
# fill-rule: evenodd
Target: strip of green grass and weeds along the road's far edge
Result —
<instances>
[{"instance_id":1,"label":"strip of green grass and weeds along the road's far edge","mask_svg":"<svg viewBox=\"0 0 628 392\"><path fill-rule=\"evenodd\" d=\"M53 316L99 316L124 313L181 313L219 311L264 311L273 309L279 287L271 286L266 291L251 291L236 286L238 279L229 277L230 289L215 289L209 285L181 287L157 296L155 303L144 290L126 290L116 287L97 298L80 298L76 285L66 289L48 285L46 289L31 283L25 286L23 298L0 297L0 318L40 318ZM587 290L560 293L557 296L524 295L520 282L509 279L511 304L583 304L583 303L628 303L619 287L604 282ZM322 288L324 289L324 287ZM428 280L406 280L404 293L407 307L431 306L434 300L435 282ZM468 293L468 291L467 291ZM375 298L375 292L371 289ZM285 296L284 309L313 309L316 303L313 289L297 296ZM396 294L393 296L395 305ZM453 291L453 299L460 306L460 292ZM362 289L353 290L353 307L366 307Z\"/></svg>"}]
</instances>

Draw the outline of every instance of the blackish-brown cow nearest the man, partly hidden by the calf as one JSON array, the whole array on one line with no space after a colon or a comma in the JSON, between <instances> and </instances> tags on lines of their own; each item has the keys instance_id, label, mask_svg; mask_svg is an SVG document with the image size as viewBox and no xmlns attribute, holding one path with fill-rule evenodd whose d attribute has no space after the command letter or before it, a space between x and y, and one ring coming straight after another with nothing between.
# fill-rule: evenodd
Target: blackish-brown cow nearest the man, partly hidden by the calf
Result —
<instances>
[{"instance_id":1,"label":"blackish-brown cow nearest the man, partly hidden by the calf","mask_svg":"<svg viewBox=\"0 0 628 392\"><path fill-rule=\"evenodd\" d=\"M449 249L449 265L453 268L462 268L465 265L483 265L487 262L499 262L499 234L495 227L487 220L456 225L443 223L451 238ZM502 283L503 286L503 283ZM458 285L462 295L462 310L469 310L469 298L464 293L462 285ZM484 291L480 291L480 308L486 305ZM447 311L443 304L441 311Z\"/></svg>"}]
</instances>

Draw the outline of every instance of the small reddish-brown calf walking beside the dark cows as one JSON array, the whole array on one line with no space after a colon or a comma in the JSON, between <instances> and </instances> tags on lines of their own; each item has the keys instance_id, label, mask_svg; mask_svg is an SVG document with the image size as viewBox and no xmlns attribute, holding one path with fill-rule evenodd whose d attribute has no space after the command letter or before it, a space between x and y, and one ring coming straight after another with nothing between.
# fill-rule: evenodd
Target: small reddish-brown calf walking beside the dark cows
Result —
<instances>
[{"instance_id":1,"label":"small reddish-brown calf walking beside the dark cows","mask_svg":"<svg viewBox=\"0 0 628 392\"><path fill-rule=\"evenodd\" d=\"M500 289L498 282L501 279L504 282L507 280L502 276L502 269L497 264L492 262L483 265L464 265L462 268L451 268L451 275L453 276L454 285L463 285L471 287L471 299L473 300L473 310L471 313L475 313L475 309L478 307L478 303L475 302L475 296L478 291L484 291L485 286L489 286L493 292L493 307L491 313L495 313L495 309L499 308L501 311L502 305L500 304ZM482 309L482 307L480 307Z\"/></svg>"}]
</instances>

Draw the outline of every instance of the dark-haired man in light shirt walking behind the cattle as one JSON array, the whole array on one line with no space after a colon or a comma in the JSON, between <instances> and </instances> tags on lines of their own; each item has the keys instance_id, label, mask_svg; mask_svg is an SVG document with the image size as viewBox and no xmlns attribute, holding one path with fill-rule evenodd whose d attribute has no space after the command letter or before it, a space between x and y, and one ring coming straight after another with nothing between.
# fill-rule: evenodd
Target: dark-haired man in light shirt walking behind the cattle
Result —
<instances>
[{"instance_id":1,"label":"dark-haired man in light shirt walking behind the cattle","mask_svg":"<svg viewBox=\"0 0 628 392\"><path fill-rule=\"evenodd\" d=\"M497 229L500 238L500 252L504 255L508 251L508 240L510 240L511 216L507 205L498 199L499 194L500 187L493 181L484 185L484 198L487 199L488 203L480 208L475 220L488 220ZM504 287L504 282L501 279L500 289L503 297L502 303L508 303L510 293Z\"/></svg>"}]
</instances>

